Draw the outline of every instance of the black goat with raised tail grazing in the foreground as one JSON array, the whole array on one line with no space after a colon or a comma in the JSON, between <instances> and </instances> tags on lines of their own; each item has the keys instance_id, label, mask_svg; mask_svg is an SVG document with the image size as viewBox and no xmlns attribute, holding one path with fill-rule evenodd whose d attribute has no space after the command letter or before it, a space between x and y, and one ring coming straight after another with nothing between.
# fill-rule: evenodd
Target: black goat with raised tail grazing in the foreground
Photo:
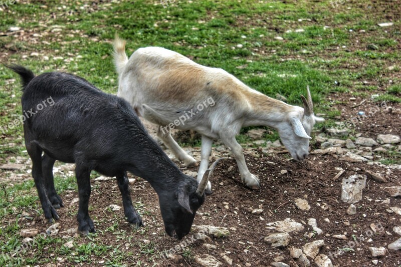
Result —
<instances>
[{"instance_id":1,"label":"black goat with raised tail grazing in the foreground","mask_svg":"<svg viewBox=\"0 0 401 267\"><path fill-rule=\"evenodd\" d=\"M49 222L59 218L56 209L63 206L53 181L53 165L60 160L76 164L81 233L95 232L88 213L92 170L117 177L129 223L143 225L132 206L127 171L147 180L156 190L168 235L182 238L189 232L196 210L205 201L211 169L198 185L147 134L128 102L103 93L86 80L59 72L35 77L24 67L7 67L21 76L23 113L32 114L24 122L25 145ZM53 105L43 107L44 99L52 99Z\"/></svg>"}]
</instances>

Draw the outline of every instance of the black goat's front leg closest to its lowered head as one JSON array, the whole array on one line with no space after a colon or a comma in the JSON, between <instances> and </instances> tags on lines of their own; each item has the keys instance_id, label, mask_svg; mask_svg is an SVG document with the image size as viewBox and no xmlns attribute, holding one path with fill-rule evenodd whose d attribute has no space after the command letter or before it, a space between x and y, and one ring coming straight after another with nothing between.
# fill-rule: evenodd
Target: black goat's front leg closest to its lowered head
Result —
<instances>
[{"instance_id":1,"label":"black goat's front leg closest to its lowered head","mask_svg":"<svg viewBox=\"0 0 401 267\"><path fill-rule=\"evenodd\" d=\"M120 188L121 196L122 196L122 204L124 206L124 215L127 218L127 221L135 227L144 226L142 223L142 219L138 212L132 205L131 200L131 192L129 190L129 183L127 172L123 172L116 176L118 187Z\"/></svg>"}]
</instances>

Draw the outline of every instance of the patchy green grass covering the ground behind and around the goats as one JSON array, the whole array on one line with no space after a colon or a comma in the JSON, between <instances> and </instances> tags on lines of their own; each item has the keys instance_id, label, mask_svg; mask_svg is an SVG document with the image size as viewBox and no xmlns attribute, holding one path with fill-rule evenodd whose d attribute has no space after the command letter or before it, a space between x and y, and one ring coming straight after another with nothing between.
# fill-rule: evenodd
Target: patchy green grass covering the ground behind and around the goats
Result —
<instances>
[{"instance_id":1,"label":"patchy green grass covering the ground behind and around the goats","mask_svg":"<svg viewBox=\"0 0 401 267\"><path fill-rule=\"evenodd\" d=\"M115 94L118 77L110 54L111 41L118 33L127 40L128 55L146 46L171 49L199 64L223 68L268 96L279 93L289 104L301 105L300 94L305 94L309 85L315 113L326 114L326 122L317 124L318 129L334 126L341 115L332 108L335 94L368 98L378 93L376 101L401 102L397 75L401 22L394 20L392 27L378 27L377 22L387 21L393 11L369 12L370 1L345 2L336 8L330 1L196 0L175 1L168 8L155 3L158 1L16 3L1 13L0 32L7 35L0 35L0 61L22 64L37 74L56 70L74 73ZM23 37L9 32L10 27L24 30ZM283 40L276 40L278 36ZM21 124L1 131L22 114L20 98L18 78L0 65L1 164L17 156L28 157ZM245 133L249 129L243 129L237 140L248 143ZM277 132L263 139L275 141ZM188 144L200 145L198 140ZM390 151L382 155L382 162L397 163L399 157ZM0 219L18 217L24 210L42 214L32 180L5 188L0 188ZM58 192L76 190L75 177L56 177L56 188ZM147 214L140 201L135 206ZM126 237L119 231L117 219L108 225L105 233ZM9 254L21 246L20 227L18 222L5 222L0 228L2 252ZM38 240L35 254L0 257L0 265L46 264L54 260L47 256L52 252L66 255L68 262L76 265L95 264L92 254L104 257L107 266L119 266L132 256L129 250L102 243L98 236L93 239L85 243L76 239L74 247L68 249L62 245L66 240L43 238ZM45 251L47 244L55 245ZM141 254L156 257L154 244L141 246ZM183 255L191 260L190 248ZM141 259L128 261L143 265Z\"/></svg>"}]
</instances>

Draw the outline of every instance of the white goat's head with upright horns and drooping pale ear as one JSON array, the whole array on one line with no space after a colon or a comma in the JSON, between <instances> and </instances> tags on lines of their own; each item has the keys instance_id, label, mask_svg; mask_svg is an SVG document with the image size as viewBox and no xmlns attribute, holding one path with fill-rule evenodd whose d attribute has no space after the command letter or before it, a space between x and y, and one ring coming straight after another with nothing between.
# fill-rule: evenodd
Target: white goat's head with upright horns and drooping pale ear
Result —
<instances>
[{"instance_id":1,"label":"white goat's head with upright horns and drooping pale ear","mask_svg":"<svg viewBox=\"0 0 401 267\"><path fill-rule=\"evenodd\" d=\"M310 96L309 86L308 99L301 95L304 108L297 108L290 112L287 121L284 121L278 127L281 141L290 152L293 159L297 161L304 160L309 154L310 132L316 122L324 121L321 117L313 114L312 97Z\"/></svg>"}]
</instances>

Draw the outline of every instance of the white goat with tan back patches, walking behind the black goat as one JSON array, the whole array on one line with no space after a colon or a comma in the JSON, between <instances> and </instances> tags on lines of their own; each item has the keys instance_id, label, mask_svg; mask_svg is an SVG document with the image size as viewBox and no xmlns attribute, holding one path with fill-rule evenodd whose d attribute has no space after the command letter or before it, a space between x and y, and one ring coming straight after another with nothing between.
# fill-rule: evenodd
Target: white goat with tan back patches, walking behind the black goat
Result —
<instances>
[{"instance_id":1,"label":"white goat with tan back patches, walking behind the black goat","mask_svg":"<svg viewBox=\"0 0 401 267\"><path fill-rule=\"evenodd\" d=\"M249 88L222 69L196 64L164 48L140 48L128 60L125 41L116 37L114 63L119 74L117 96L126 99L139 116L159 125L158 137L186 166L197 163L179 147L167 126L202 134L198 182L208 169L213 139L220 139L234 154L242 181L258 189L259 179L248 170L236 141L240 129L258 125L275 128L291 156L302 161L309 152L313 125L324 120L313 114L309 88L308 99L301 95L304 108L291 106ZM208 193L211 188L209 182Z\"/></svg>"}]
</instances>

